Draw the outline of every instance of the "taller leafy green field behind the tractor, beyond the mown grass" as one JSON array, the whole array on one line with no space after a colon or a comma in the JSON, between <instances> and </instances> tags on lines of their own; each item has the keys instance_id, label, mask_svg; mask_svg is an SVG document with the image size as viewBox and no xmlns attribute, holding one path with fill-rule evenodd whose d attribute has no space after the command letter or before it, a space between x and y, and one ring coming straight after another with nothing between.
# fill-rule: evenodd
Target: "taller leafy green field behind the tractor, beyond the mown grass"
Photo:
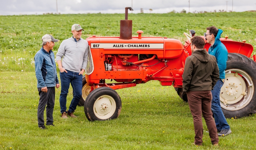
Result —
<instances>
[{"instance_id":1,"label":"taller leafy green field behind the tractor, beyond the mown grass","mask_svg":"<svg viewBox=\"0 0 256 150\"><path fill-rule=\"evenodd\" d=\"M246 40L255 49L255 16L256 12L130 13L128 19L133 20L133 36L142 30L142 36L176 38L184 44L183 40L187 40L184 32L194 29L196 35L203 35L206 27L214 25L224 31L222 37L228 35L234 41ZM85 29L82 38L119 36L120 19L124 19L124 14L0 16L0 72L34 71L34 55L40 49L41 38L45 34L60 40L53 48L56 54L60 43L72 36L73 24L78 23Z\"/></svg>"}]
</instances>

